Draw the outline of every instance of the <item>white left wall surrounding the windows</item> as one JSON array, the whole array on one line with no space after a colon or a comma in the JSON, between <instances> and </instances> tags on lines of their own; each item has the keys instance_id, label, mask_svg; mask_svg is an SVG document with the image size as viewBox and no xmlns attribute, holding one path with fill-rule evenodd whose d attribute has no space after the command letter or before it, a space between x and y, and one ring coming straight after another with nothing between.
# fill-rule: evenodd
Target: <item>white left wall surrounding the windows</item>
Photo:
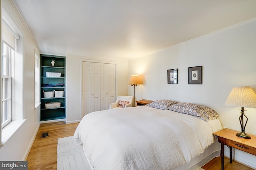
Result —
<instances>
[{"instance_id":1,"label":"white left wall surrounding the windows","mask_svg":"<svg viewBox=\"0 0 256 170\"><path fill-rule=\"evenodd\" d=\"M12 3L9 0L3 0L2 6L24 35L23 118L26 119L26 121L16 133L4 143L4 146L1 147L0 160L24 160L33 143L38 125L40 124L40 108L34 108L34 51L36 51L38 56L40 56L40 51L28 32L28 29L26 29L22 20L20 20Z\"/></svg>"}]
</instances>

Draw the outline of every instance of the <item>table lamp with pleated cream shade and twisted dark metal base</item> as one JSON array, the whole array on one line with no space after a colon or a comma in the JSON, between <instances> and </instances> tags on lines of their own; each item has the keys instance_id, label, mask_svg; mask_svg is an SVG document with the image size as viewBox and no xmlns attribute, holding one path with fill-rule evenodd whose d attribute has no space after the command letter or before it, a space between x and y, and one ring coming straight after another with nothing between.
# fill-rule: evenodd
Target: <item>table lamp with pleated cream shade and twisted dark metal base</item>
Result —
<instances>
[{"instance_id":1,"label":"table lamp with pleated cream shade and twisted dark metal base","mask_svg":"<svg viewBox=\"0 0 256 170\"><path fill-rule=\"evenodd\" d=\"M244 87L234 87L230 92L226 102L226 106L241 107L241 115L239 117L241 132L237 133L236 136L251 139L249 135L245 133L246 123L248 118L244 115L244 107L256 107L256 94L249 86ZM244 117L246 117L246 122L244 124Z\"/></svg>"}]
</instances>

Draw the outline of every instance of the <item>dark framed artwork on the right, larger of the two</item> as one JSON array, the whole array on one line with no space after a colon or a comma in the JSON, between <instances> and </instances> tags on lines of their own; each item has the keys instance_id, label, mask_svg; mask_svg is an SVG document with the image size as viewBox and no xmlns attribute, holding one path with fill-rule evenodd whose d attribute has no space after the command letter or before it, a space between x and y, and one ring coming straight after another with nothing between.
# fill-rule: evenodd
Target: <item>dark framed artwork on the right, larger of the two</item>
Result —
<instances>
[{"instance_id":1,"label":"dark framed artwork on the right, larger of the two","mask_svg":"<svg viewBox=\"0 0 256 170\"><path fill-rule=\"evenodd\" d=\"M202 84L202 66L188 67L188 84Z\"/></svg>"}]
</instances>

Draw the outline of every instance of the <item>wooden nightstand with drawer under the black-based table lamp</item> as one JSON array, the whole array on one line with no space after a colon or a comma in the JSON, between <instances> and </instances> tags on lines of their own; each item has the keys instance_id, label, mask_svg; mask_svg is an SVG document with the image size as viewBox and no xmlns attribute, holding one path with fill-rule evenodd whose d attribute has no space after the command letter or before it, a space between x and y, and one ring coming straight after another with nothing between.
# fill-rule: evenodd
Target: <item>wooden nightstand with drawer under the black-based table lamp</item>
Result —
<instances>
[{"instance_id":1,"label":"wooden nightstand with drawer under the black-based table lamp","mask_svg":"<svg viewBox=\"0 0 256 170\"><path fill-rule=\"evenodd\" d=\"M221 169L224 170L224 145L229 147L230 163L232 163L232 148L242 150L244 152L256 155L256 136L250 135L251 139L244 139L236 136L239 131L232 129L222 129L213 135L218 136L218 141L221 144Z\"/></svg>"}]
</instances>

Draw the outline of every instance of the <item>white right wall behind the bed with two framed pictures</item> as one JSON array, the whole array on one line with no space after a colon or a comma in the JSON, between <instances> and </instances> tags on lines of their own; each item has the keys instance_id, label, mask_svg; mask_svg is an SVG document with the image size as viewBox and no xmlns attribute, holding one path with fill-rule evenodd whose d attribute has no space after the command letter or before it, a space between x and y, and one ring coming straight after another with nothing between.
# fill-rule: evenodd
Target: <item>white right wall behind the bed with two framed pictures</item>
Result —
<instances>
[{"instance_id":1,"label":"white right wall behind the bed with two framed pictures","mask_svg":"<svg viewBox=\"0 0 256 170\"><path fill-rule=\"evenodd\" d=\"M145 80L136 88L137 100L202 104L219 113L224 127L241 131L240 108L224 103L234 86L250 86L256 92L255 30L256 19L129 61L129 74L141 74ZM202 85L188 84L192 66L203 66ZM178 84L167 84L167 70L174 68L178 68ZM129 94L133 95L132 88ZM245 131L256 135L256 108L246 109ZM256 156L236 150L235 159L256 168Z\"/></svg>"}]
</instances>

